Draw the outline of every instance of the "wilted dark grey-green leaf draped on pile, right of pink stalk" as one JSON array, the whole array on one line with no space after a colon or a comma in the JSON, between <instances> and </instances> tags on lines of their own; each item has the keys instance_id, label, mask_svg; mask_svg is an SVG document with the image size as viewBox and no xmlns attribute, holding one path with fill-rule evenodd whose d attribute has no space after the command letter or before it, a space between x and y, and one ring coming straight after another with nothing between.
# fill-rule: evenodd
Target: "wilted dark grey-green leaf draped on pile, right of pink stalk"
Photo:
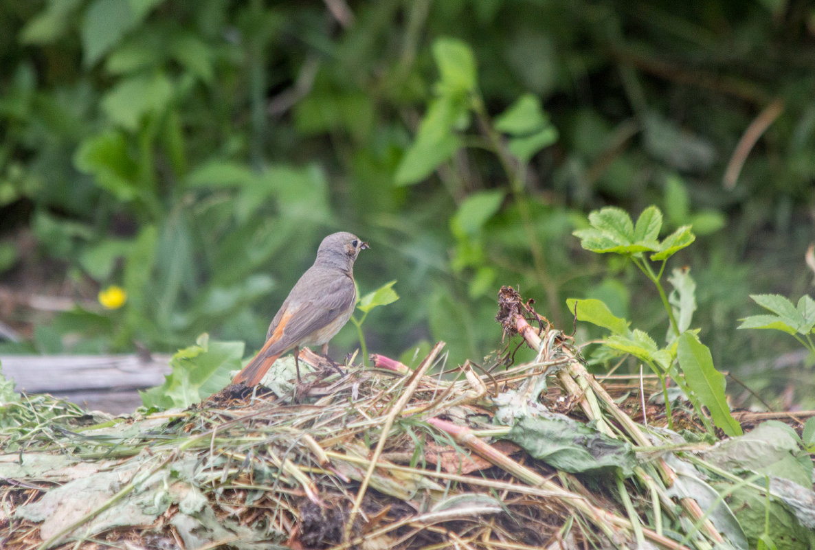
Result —
<instances>
[{"instance_id":1,"label":"wilted dark grey-green leaf draped on pile, right of pink stalk","mask_svg":"<svg viewBox=\"0 0 815 550\"><path fill-rule=\"evenodd\" d=\"M628 477L637 466L630 443L575 420L523 416L506 438L565 472L607 475L620 469Z\"/></svg>"}]
</instances>

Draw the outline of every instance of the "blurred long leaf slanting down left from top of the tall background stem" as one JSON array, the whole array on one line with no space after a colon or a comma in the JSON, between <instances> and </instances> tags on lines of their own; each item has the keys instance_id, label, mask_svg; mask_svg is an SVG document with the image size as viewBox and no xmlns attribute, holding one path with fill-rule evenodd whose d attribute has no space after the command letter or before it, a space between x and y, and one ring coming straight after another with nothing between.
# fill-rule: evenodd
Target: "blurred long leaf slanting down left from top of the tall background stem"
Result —
<instances>
[{"instance_id":1,"label":"blurred long leaf slanting down left from top of the tall background stem","mask_svg":"<svg viewBox=\"0 0 815 550\"><path fill-rule=\"evenodd\" d=\"M461 142L452 130L461 114L460 108L456 100L447 97L430 103L416 133L416 141L399 161L394 175L397 185L421 182L458 151Z\"/></svg>"}]
</instances>

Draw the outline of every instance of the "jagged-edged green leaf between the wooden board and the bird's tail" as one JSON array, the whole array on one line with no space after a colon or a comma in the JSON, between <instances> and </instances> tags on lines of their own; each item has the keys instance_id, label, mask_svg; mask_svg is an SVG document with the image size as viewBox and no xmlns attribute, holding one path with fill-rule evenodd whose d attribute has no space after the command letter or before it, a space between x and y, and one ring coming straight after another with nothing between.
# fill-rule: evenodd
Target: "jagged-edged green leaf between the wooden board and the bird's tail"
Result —
<instances>
[{"instance_id":1,"label":"jagged-edged green leaf between the wooden board and the bird's tail","mask_svg":"<svg viewBox=\"0 0 815 550\"><path fill-rule=\"evenodd\" d=\"M227 387L230 371L240 370L244 342L209 341L206 334L196 345L179 350L170 360L173 372L161 386L139 391L145 407L187 408Z\"/></svg>"}]
</instances>

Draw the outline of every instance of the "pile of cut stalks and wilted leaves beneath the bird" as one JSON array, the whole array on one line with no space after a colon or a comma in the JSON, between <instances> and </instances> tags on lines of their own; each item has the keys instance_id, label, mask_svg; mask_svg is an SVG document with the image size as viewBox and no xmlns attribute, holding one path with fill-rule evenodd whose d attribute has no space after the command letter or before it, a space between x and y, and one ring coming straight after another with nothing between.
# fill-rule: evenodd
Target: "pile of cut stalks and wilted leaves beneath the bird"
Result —
<instances>
[{"instance_id":1,"label":"pile of cut stalks and wilted leaves beneath the bird","mask_svg":"<svg viewBox=\"0 0 815 550\"><path fill-rule=\"evenodd\" d=\"M415 370L304 352L301 385L289 359L271 389L126 418L0 388L0 547L815 548L795 429L717 441L681 404L667 429L653 384L601 384L500 303L538 352L500 371L446 369L441 343Z\"/></svg>"}]
</instances>

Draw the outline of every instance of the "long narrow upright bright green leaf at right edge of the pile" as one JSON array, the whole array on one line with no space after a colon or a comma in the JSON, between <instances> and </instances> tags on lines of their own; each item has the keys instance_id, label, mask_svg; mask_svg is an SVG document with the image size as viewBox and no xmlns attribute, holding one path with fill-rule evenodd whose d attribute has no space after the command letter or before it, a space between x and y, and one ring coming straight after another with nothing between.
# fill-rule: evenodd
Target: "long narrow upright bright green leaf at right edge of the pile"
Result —
<instances>
[{"instance_id":1,"label":"long narrow upright bright green leaf at right edge of the pile","mask_svg":"<svg viewBox=\"0 0 815 550\"><path fill-rule=\"evenodd\" d=\"M679 337L677 358L685 381L699 401L707 407L711 418L718 427L733 437L742 434L742 427L730 415L725 395L725 376L713 366L711 351L692 332L684 332Z\"/></svg>"}]
</instances>

